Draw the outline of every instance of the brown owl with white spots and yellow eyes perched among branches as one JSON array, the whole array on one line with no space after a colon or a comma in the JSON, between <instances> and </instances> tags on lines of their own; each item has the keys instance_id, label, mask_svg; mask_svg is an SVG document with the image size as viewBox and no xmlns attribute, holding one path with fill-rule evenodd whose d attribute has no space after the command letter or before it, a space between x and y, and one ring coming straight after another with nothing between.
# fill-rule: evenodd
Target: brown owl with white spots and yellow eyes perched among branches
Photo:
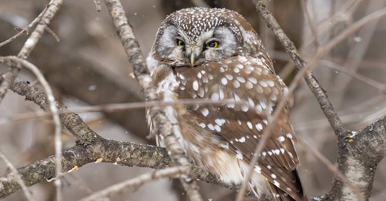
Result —
<instances>
[{"instance_id":1,"label":"brown owl with white spots and yellow eyes perched among branches","mask_svg":"<svg viewBox=\"0 0 386 201\"><path fill-rule=\"evenodd\" d=\"M256 31L234 11L179 10L162 22L146 62L165 102L223 101L163 109L194 165L224 183L241 184L268 116L288 92ZM289 123L292 99L286 104L254 166L249 187L258 198L307 200ZM153 132L148 112L147 118ZM162 145L162 135L156 138Z\"/></svg>"}]
</instances>

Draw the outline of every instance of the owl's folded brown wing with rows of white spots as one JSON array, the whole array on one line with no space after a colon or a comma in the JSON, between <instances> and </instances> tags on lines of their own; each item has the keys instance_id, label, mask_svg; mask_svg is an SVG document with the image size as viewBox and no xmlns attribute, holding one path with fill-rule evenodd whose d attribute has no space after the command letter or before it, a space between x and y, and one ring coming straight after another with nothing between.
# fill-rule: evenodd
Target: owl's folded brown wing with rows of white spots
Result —
<instances>
[{"instance_id":1,"label":"owl's folded brown wing with rows of white spots","mask_svg":"<svg viewBox=\"0 0 386 201\"><path fill-rule=\"evenodd\" d=\"M175 68L174 73L177 82L180 82L177 89L179 98L229 99L246 103L241 106L187 106L187 110L197 117L197 124L226 139L229 151L249 163L267 127L267 116L285 97L287 90L270 71L268 63L263 58L231 57L200 67ZM299 159L288 119L285 109L259 157L255 171L263 174L274 186L298 197L302 187L293 171L296 171Z\"/></svg>"}]
</instances>

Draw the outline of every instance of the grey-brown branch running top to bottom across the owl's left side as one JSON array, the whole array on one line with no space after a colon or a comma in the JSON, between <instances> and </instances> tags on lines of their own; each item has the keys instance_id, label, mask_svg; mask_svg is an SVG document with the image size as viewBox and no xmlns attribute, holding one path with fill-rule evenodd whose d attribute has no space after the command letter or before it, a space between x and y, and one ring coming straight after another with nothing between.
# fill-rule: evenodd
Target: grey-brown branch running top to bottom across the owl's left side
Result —
<instances>
[{"instance_id":1,"label":"grey-brown branch running top to bottom across the owl's left side","mask_svg":"<svg viewBox=\"0 0 386 201\"><path fill-rule=\"evenodd\" d=\"M144 57L139 48L138 41L133 34L131 25L126 18L126 13L122 3L119 0L105 0L105 2L129 61L133 65L134 75L136 76L138 84L140 85L141 90L145 95L145 99L158 99L151 77L149 75L149 71L144 62ZM155 128L158 129L158 133L164 137L166 148L170 153L170 157L174 165L190 165L184 151L178 143L177 138L172 132L172 125L168 118L165 116L164 111L162 111L160 107L152 107L150 110L150 115L153 118ZM191 177L194 177L191 169L189 169L186 175L187 178L181 178L181 182L187 192L190 201L203 200L199 192L197 182L194 179L191 179Z\"/></svg>"}]
</instances>

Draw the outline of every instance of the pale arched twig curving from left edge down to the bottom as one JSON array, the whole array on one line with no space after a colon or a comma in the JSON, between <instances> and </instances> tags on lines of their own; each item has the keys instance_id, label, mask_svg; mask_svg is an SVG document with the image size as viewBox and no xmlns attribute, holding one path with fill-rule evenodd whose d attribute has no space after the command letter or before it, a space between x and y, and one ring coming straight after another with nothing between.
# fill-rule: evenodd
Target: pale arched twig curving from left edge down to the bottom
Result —
<instances>
[{"instance_id":1,"label":"pale arched twig curving from left edge down to the bottom","mask_svg":"<svg viewBox=\"0 0 386 201\"><path fill-rule=\"evenodd\" d=\"M47 100L50 107L50 111L52 113L52 118L54 120L55 124L55 155L56 155L56 175L60 175L62 173L62 167L61 167L61 153L62 153L62 141L60 139L61 135L61 124L60 124L60 118L58 114L58 109L55 105L55 97L52 93L52 89L50 85L48 84L47 80L44 78L43 74L40 72L40 70L29 61L16 57L16 56L8 56L8 57L0 57L0 62L14 62L17 63L27 69L29 69L31 72L35 74L35 76L38 78L40 84L43 86L44 91L47 94ZM12 64L11 64L12 65ZM56 186L56 198L57 200L61 200L61 182L60 179L56 179L54 182Z\"/></svg>"}]
</instances>

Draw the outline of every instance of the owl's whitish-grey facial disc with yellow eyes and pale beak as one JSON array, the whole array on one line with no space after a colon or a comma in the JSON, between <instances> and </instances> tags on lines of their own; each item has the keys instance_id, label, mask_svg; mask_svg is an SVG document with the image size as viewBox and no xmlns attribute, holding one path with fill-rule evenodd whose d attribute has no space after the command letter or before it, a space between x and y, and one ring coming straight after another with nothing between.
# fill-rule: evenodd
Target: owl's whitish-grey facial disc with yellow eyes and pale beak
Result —
<instances>
[{"instance_id":1,"label":"owl's whitish-grey facial disc with yellow eyes and pale beak","mask_svg":"<svg viewBox=\"0 0 386 201\"><path fill-rule=\"evenodd\" d=\"M226 27L214 27L192 37L169 26L159 39L158 52L171 66L197 66L235 56L237 46L233 32Z\"/></svg>"}]
</instances>

